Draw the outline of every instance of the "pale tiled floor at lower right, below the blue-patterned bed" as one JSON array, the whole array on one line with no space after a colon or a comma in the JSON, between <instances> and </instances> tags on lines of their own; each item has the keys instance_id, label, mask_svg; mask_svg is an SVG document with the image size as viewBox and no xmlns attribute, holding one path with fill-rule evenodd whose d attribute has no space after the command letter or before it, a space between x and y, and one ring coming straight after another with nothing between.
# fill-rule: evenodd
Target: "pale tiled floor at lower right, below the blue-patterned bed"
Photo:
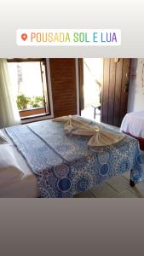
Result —
<instances>
[{"instance_id":1,"label":"pale tiled floor at lower right, below the blue-patterned bed","mask_svg":"<svg viewBox=\"0 0 144 256\"><path fill-rule=\"evenodd\" d=\"M144 153L142 160L144 163ZM144 181L130 187L130 173L121 177L112 177L106 183L95 186L89 191L79 193L75 198L142 198L144 197Z\"/></svg>"}]
</instances>

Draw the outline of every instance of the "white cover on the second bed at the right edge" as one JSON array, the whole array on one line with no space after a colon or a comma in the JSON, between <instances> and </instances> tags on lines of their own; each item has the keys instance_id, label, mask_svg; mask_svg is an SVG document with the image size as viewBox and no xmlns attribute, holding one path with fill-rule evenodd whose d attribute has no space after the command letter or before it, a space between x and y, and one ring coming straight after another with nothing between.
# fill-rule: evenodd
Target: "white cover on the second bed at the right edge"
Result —
<instances>
[{"instance_id":1,"label":"white cover on the second bed at the right edge","mask_svg":"<svg viewBox=\"0 0 144 256\"><path fill-rule=\"evenodd\" d=\"M144 138L144 110L126 113L120 131L130 132L135 137Z\"/></svg>"}]
</instances>

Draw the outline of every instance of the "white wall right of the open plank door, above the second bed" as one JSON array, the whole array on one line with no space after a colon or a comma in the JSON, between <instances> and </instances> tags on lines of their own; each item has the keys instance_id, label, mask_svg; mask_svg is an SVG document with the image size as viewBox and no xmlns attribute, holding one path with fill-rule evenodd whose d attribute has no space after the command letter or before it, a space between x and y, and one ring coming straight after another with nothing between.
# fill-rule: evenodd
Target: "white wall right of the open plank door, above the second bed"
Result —
<instances>
[{"instance_id":1,"label":"white wall right of the open plank door, above the second bed","mask_svg":"<svg viewBox=\"0 0 144 256\"><path fill-rule=\"evenodd\" d=\"M132 59L127 111L140 110L144 110L144 59Z\"/></svg>"}]
</instances>

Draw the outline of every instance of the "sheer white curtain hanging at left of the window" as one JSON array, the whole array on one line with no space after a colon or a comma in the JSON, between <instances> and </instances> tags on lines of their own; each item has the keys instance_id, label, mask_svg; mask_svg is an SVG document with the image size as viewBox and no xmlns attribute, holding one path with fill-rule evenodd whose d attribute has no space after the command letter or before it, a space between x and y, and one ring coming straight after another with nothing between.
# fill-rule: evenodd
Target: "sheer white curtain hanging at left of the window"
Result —
<instances>
[{"instance_id":1,"label":"sheer white curtain hanging at left of the window","mask_svg":"<svg viewBox=\"0 0 144 256\"><path fill-rule=\"evenodd\" d=\"M20 125L20 114L9 79L6 59L0 59L0 128Z\"/></svg>"}]
</instances>

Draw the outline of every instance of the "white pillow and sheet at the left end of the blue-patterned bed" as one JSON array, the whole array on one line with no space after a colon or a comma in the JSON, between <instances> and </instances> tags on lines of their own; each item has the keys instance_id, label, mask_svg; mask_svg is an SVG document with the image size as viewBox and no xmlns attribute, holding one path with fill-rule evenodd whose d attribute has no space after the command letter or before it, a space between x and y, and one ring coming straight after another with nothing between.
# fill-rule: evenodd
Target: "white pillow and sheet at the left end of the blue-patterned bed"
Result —
<instances>
[{"instance_id":1,"label":"white pillow and sheet at the left end of the blue-patterned bed","mask_svg":"<svg viewBox=\"0 0 144 256\"><path fill-rule=\"evenodd\" d=\"M40 196L37 177L3 130L8 143L0 144L0 197L37 198ZM3 162L3 160L5 160Z\"/></svg>"}]
</instances>

